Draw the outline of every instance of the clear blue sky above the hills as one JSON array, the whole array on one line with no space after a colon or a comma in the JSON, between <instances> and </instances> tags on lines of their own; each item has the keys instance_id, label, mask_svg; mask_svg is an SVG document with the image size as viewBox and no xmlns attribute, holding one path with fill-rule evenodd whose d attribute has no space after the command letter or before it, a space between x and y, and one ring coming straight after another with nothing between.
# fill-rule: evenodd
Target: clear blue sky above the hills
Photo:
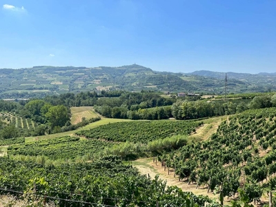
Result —
<instances>
[{"instance_id":1,"label":"clear blue sky above the hills","mask_svg":"<svg viewBox=\"0 0 276 207\"><path fill-rule=\"evenodd\" d=\"M0 0L0 68L276 72L274 0Z\"/></svg>"}]
</instances>

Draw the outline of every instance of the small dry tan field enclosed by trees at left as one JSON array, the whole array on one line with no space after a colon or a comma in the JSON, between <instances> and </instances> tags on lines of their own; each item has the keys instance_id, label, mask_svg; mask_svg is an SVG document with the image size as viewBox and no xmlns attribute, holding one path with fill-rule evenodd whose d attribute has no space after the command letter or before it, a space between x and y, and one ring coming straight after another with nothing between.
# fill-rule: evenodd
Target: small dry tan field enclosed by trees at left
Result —
<instances>
[{"instance_id":1,"label":"small dry tan field enclosed by trees at left","mask_svg":"<svg viewBox=\"0 0 276 207\"><path fill-rule=\"evenodd\" d=\"M72 114L71 124L78 124L82 117L86 119L99 117L92 106L71 107L70 110Z\"/></svg>"}]
</instances>

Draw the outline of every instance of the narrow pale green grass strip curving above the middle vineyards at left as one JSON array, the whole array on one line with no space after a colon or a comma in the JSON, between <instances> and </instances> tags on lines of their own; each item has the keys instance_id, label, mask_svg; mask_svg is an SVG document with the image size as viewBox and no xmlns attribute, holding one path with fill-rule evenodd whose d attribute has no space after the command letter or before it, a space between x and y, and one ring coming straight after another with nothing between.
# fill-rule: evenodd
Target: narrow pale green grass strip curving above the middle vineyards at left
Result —
<instances>
[{"instance_id":1,"label":"narrow pale green grass strip curving above the middle vineyards at left","mask_svg":"<svg viewBox=\"0 0 276 207\"><path fill-rule=\"evenodd\" d=\"M99 121L93 122L91 124L88 124L86 126L83 126L82 128L78 128L77 130L72 130L69 132L61 132L57 134L52 134L52 135L43 135L43 136L38 136L38 137L26 137L25 142L28 143L30 141L38 141L38 140L43 140L43 139L51 139L51 138L56 138L56 137L65 137L65 136L70 136L74 135L75 132L78 132L80 130L88 130L90 128L96 128L97 126L105 125L105 124L111 124L115 122L121 122L121 121L132 121L130 119L108 119L108 118L103 118Z\"/></svg>"}]
</instances>

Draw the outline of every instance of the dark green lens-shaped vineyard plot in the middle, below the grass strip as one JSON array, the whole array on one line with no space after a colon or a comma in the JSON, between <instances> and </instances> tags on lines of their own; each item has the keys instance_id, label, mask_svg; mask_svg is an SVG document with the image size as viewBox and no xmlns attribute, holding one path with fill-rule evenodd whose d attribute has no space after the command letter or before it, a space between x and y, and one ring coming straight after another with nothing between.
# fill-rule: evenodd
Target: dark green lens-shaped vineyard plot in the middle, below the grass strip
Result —
<instances>
[{"instance_id":1,"label":"dark green lens-shaped vineyard plot in the middle, below the grass strip","mask_svg":"<svg viewBox=\"0 0 276 207\"><path fill-rule=\"evenodd\" d=\"M88 139L106 139L108 141L131 141L143 144L155 139L164 139L172 135L189 135L203 124L202 121L131 121L106 124L90 130L76 133Z\"/></svg>"}]
</instances>

